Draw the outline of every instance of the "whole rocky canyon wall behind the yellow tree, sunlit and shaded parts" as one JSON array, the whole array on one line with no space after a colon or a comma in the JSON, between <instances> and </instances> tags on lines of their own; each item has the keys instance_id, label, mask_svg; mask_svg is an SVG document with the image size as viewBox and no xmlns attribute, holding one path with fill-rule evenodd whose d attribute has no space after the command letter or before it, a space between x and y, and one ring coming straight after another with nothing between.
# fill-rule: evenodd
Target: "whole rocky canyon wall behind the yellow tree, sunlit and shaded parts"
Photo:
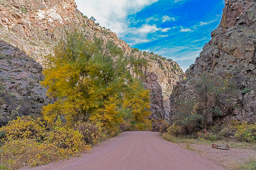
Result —
<instances>
[{"instance_id":1,"label":"whole rocky canyon wall behind the yellow tree, sunlit and shaded parts","mask_svg":"<svg viewBox=\"0 0 256 170\"><path fill-rule=\"evenodd\" d=\"M127 55L148 59L149 66L142 79L144 87L150 90L151 118L169 119L169 94L173 85L185 77L176 62L132 49L116 33L84 16L73 0L1 0L0 16L0 85L2 94L8 93L6 103L0 103L1 125L27 114L25 110L39 114L43 105L54 102L40 85L44 57L52 53L65 30L74 29L82 31L87 40L96 36L104 42L113 41Z\"/></svg>"}]
</instances>

